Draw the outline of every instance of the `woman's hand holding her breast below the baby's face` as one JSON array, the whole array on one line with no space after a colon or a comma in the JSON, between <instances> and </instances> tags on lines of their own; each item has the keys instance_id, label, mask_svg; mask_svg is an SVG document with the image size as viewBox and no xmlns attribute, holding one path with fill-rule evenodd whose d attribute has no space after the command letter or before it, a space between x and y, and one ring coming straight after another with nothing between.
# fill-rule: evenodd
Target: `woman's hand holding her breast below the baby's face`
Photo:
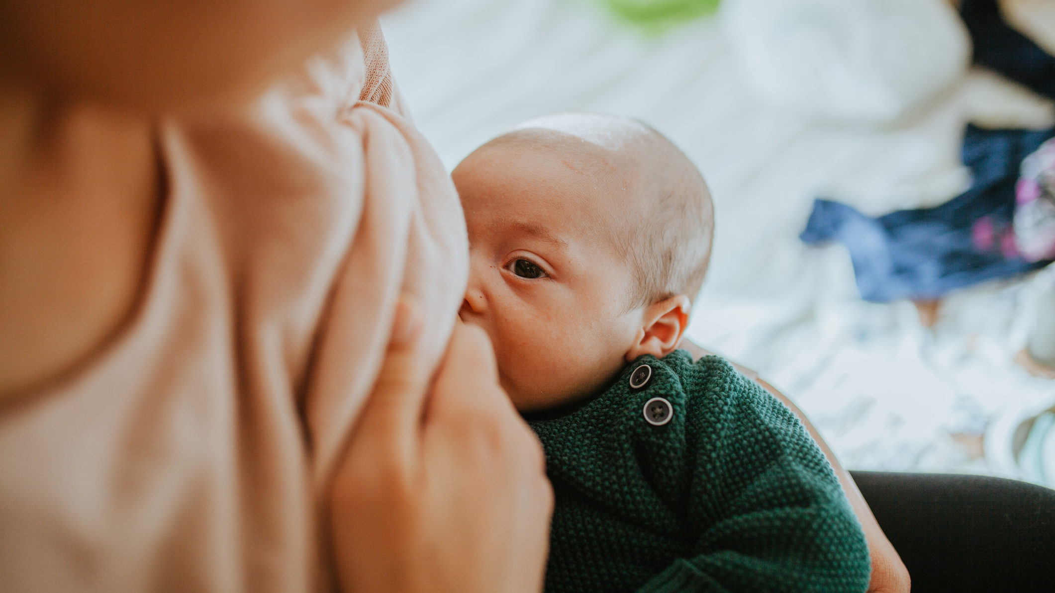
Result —
<instances>
[{"instance_id":1,"label":"woman's hand holding her breast below the baby's face","mask_svg":"<svg viewBox=\"0 0 1055 593\"><path fill-rule=\"evenodd\" d=\"M342 590L538 593L553 492L486 336L457 323L431 381L420 313L401 303L396 317L331 491Z\"/></svg>"}]
</instances>

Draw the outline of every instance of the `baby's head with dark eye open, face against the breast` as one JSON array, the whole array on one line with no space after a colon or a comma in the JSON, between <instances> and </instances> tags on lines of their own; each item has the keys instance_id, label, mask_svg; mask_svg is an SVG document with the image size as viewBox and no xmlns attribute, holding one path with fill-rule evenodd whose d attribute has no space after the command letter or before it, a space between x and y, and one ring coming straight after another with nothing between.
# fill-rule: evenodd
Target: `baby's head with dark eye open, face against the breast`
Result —
<instances>
[{"instance_id":1,"label":"baby's head with dark eye open, face against the breast","mask_svg":"<svg viewBox=\"0 0 1055 593\"><path fill-rule=\"evenodd\" d=\"M573 403L682 338L710 259L703 176L636 120L528 121L455 169L469 237L460 311L521 412Z\"/></svg>"}]
</instances>

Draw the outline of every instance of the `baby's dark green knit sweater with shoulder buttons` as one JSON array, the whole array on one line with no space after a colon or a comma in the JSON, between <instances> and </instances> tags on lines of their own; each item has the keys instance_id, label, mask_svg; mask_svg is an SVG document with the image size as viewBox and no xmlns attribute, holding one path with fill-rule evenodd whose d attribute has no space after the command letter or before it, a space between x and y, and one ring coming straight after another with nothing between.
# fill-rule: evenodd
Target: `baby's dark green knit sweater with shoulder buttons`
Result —
<instances>
[{"instance_id":1,"label":"baby's dark green knit sweater with shoulder buttons","mask_svg":"<svg viewBox=\"0 0 1055 593\"><path fill-rule=\"evenodd\" d=\"M641 357L529 421L556 495L546 593L867 588L864 534L821 449L717 357Z\"/></svg>"}]
</instances>

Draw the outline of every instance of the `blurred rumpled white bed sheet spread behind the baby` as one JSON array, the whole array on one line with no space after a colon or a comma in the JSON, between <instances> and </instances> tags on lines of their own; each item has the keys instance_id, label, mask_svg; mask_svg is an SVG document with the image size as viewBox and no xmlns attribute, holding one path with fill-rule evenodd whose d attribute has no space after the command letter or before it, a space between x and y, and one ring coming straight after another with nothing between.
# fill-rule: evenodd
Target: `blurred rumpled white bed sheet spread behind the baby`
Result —
<instances>
[{"instance_id":1,"label":"blurred rumpled white bed sheet spread behind the baby","mask_svg":"<svg viewBox=\"0 0 1055 593\"><path fill-rule=\"evenodd\" d=\"M902 107L881 116L829 117L760 92L745 65L746 41L736 37L737 26L750 23L730 22L737 1L749 0L724 0L713 15L661 31L596 0L414 0L382 25L416 123L447 168L519 121L571 110L639 117L685 150L707 177L717 216L711 271L689 337L784 389L846 466L1013 473L987 461L982 435L1008 409L1055 402L1055 384L1014 362L1036 319L1046 274L1055 272L954 292L926 327L908 301L863 301L845 249L808 248L798 235L817 195L840 196L870 216L950 200L971 185L960 160L968 122L1050 128L1052 101L959 62L970 56L970 44L960 45L955 33L964 27L955 9L935 8L916 17L952 19L941 21L944 33L934 38L921 35L912 15L899 24L897 14L887 14L883 22L909 32L914 46L932 46L931 54L908 58L924 73L933 64L922 62L945 60L939 70L948 79L908 93L904 81L878 70L849 72L841 80L900 90L885 104ZM1012 22L1048 51L1055 39L1041 40L1043 26L1023 27L1032 21L1021 15L1051 3L1005 6L1017 15ZM811 13L807 24L828 22L819 15ZM865 27L869 20L831 22ZM908 59L899 56L889 63ZM806 65L799 72L827 80ZM819 104L833 104L832 97L843 95L816 96Z\"/></svg>"}]
</instances>

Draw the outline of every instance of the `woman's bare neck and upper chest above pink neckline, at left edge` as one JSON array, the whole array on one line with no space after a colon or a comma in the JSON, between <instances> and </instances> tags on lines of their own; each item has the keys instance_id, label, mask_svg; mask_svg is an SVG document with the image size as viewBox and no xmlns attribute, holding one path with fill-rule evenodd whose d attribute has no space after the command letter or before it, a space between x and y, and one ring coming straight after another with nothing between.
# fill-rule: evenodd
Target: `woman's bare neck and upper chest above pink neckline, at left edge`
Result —
<instances>
[{"instance_id":1,"label":"woman's bare neck and upper chest above pink neckline, at left edge","mask_svg":"<svg viewBox=\"0 0 1055 593\"><path fill-rule=\"evenodd\" d=\"M161 202L152 118L0 85L0 403L135 305Z\"/></svg>"}]
</instances>

